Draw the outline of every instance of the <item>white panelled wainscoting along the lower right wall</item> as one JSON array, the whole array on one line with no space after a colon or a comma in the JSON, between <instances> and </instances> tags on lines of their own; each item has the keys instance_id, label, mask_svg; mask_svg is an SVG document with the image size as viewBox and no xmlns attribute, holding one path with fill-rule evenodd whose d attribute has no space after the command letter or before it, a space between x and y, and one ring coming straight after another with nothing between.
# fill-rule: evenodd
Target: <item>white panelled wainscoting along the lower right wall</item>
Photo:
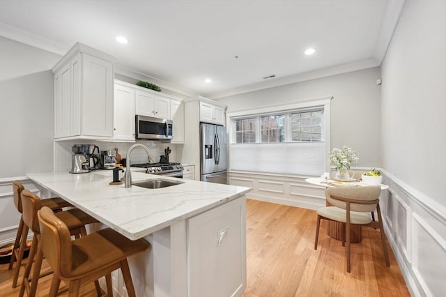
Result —
<instances>
[{"instance_id":1,"label":"white panelled wainscoting along the lower right wall","mask_svg":"<svg viewBox=\"0 0 446 297\"><path fill-rule=\"evenodd\" d=\"M390 187L380 201L384 229L410 294L444 296L446 207L382 172Z\"/></svg>"}]
</instances>

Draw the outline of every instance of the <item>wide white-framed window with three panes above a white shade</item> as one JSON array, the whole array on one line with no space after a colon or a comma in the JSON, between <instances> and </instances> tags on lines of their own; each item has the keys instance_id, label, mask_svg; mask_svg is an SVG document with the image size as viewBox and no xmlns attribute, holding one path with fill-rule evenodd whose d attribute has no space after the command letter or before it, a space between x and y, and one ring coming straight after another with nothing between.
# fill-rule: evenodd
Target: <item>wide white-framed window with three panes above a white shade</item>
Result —
<instances>
[{"instance_id":1,"label":"wide white-framed window with three panes above a white shade","mask_svg":"<svg viewBox=\"0 0 446 297\"><path fill-rule=\"evenodd\" d=\"M227 115L229 171L320 176L330 169L332 97Z\"/></svg>"}]
</instances>

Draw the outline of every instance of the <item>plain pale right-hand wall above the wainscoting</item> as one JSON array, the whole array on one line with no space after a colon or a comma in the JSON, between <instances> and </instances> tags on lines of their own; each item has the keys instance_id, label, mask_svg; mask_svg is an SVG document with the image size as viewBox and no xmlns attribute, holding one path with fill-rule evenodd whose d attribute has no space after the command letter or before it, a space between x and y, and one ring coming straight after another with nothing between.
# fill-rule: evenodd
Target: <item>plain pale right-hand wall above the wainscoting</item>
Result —
<instances>
[{"instance_id":1,"label":"plain pale right-hand wall above the wainscoting","mask_svg":"<svg viewBox=\"0 0 446 297\"><path fill-rule=\"evenodd\" d=\"M382 65L383 167L446 206L446 1L407 1Z\"/></svg>"}]
</instances>

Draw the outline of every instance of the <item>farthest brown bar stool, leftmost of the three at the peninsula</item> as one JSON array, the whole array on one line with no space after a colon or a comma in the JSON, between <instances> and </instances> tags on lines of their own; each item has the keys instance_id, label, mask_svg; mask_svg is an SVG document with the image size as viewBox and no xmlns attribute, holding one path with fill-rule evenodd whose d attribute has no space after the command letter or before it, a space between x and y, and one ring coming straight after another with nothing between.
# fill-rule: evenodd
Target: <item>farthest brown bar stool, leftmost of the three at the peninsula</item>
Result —
<instances>
[{"instance_id":1,"label":"farthest brown bar stool, leftmost of the three at the peninsula","mask_svg":"<svg viewBox=\"0 0 446 297\"><path fill-rule=\"evenodd\" d=\"M14 192L14 204L17 208L17 211L20 213L20 223L19 229L17 229L17 235L15 236L13 253L11 254L11 259L9 261L8 270L13 268L14 262L17 259L17 266L13 275L13 288L17 287L17 280L19 278L20 267L22 266L23 254L26 246L26 238L28 237L29 228L23 223L23 215L22 215L22 199L20 198L20 194L24 190L24 187L20 181L14 181L13 183L13 192ZM42 200L42 206L47 206L51 208L53 211L59 211L63 207L72 206L67 201L63 200L60 197L47 198Z\"/></svg>"}]
</instances>

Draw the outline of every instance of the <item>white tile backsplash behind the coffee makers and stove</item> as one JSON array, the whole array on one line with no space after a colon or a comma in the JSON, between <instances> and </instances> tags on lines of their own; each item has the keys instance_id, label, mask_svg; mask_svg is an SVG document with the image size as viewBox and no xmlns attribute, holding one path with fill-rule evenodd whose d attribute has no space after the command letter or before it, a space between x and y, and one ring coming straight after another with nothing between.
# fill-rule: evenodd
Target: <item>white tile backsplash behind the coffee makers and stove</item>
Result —
<instances>
[{"instance_id":1,"label":"white tile backsplash behind the coffee makers and stove","mask_svg":"<svg viewBox=\"0 0 446 297\"><path fill-rule=\"evenodd\" d=\"M169 155L170 162L180 162L180 151L182 151L182 144L170 144L168 142L157 142L151 140L137 141L139 144L143 144L148 147L151 152L151 157L155 162L160 161L160 155L164 155L164 149L169 146L171 153ZM65 140L54 142L54 171L55 172L69 172L72 162L72 145L73 144L94 144L99 147L100 151L112 151L114 148L118 148L118 153L121 158L125 158L128 148L134 143L127 142L98 142L94 140L82 139L82 140ZM134 148L130 155L130 164L146 163L147 153L142 148Z\"/></svg>"}]
</instances>

